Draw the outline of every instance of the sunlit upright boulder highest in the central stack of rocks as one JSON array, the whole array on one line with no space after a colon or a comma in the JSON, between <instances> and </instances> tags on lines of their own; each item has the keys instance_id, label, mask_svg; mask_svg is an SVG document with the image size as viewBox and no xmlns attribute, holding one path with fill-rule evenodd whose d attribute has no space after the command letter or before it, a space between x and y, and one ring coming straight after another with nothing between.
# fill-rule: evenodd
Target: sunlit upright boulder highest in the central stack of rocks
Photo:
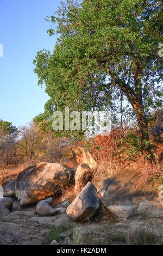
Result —
<instances>
[{"instance_id":1,"label":"sunlit upright boulder highest in the central stack of rocks","mask_svg":"<svg viewBox=\"0 0 163 256\"><path fill-rule=\"evenodd\" d=\"M85 152L82 147L79 147L77 145L72 145L72 152L78 164L86 163L92 170L96 169L97 162L93 159L93 157L88 151Z\"/></svg>"}]
</instances>

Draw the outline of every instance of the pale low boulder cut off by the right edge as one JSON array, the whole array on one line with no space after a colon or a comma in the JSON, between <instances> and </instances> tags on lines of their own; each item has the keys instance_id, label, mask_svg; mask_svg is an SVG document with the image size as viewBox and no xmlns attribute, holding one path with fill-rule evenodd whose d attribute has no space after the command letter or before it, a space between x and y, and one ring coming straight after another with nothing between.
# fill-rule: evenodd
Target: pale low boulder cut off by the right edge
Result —
<instances>
[{"instance_id":1,"label":"pale low boulder cut off by the right edge","mask_svg":"<svg viewBox=\"0 0 163 256\"><path fill-rule=\"evenodd\" d=\"M163 217L163 200L149 201L143 199L137 209L137 212L151 218Z\"/></svg>"}]
</instances>

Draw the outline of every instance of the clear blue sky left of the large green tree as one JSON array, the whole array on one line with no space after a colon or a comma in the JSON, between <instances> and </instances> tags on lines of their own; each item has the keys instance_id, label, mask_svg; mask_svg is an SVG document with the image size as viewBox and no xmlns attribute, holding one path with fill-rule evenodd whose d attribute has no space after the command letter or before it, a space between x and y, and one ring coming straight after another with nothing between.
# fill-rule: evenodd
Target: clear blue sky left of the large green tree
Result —
<instances>
[{"instance_id":1,"label":"clear blue sky left of the large green tree","mask_svg":"<svg viewBox=\"0 0 163 256\"><path fill-rule=\"evenodd\" d=\"M64 1L63 1L64 2ZM58 0L0 0L0 119L25 125L44 111L45 88L37 86L33 59L37 51L53 51L45 17L57 11Z\"/></svg>"}]
</instances>

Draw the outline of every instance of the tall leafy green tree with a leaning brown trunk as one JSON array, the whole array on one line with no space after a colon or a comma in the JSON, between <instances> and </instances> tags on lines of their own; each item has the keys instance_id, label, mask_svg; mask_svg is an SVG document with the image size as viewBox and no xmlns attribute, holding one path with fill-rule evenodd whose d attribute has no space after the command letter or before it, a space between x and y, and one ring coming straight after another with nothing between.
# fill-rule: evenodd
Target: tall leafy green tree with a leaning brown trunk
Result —
<instances>
[{"instance_id":1,"label":"tall leafy green tree with a leaning brown trunk","mask_svg":"<svg viewBox=\"0 0 163 256\"><path fill-rule=\"evenodd\" d=\"M34 60L39 84L51 99L46 112L115 109L126 97L136 116L142 147L149 140L148 115L162 101L162 2L160 0L83 0L62 3L47 17L60 36L54 52ZM121 100L120 100L121 102ZM121 106L122 111L122 106Z\"/></svg>"}]
</instances>

